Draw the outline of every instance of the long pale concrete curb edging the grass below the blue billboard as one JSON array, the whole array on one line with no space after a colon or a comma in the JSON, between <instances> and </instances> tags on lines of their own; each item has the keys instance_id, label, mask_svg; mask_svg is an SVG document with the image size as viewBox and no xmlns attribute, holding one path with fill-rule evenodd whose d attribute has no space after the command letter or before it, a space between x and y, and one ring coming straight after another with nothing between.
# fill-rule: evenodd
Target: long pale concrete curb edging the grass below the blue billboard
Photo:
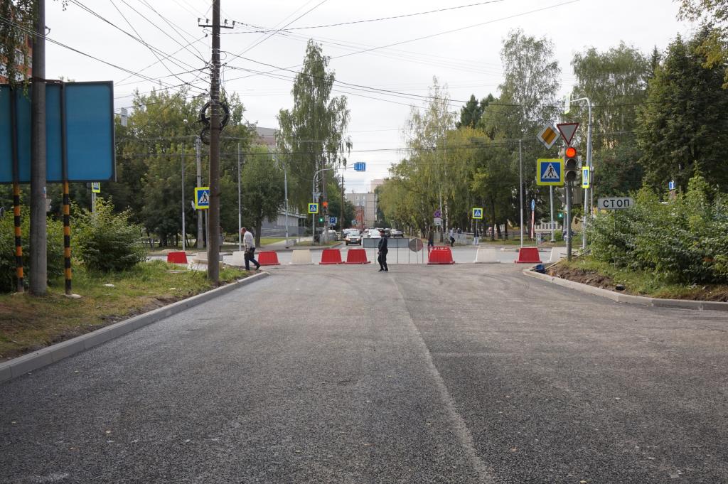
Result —
<instances>
[{"instance_id":1,"label":"long pale concrete curb edging the grass below the blue billboard","mask_svg":"<svg viewBox=\"0 0 728 484\"><path fill-rule=\"evenodd\" d=\"M92 331L91 333L76 336L76 338L69 339L68 341L53 344L47 348L39 349L36 352L23 354L21 357L0 363L0 383L17 378L29 371L43 368L46 365L58 362L63 360L63 358L70 357L73 354L80 353L86 349L98 346L99 344L106 343L106 341L131 333L133 330L143 328L146 325L151 325L153 322L163 320L165 317L173 316L173 314L177 314L185 309L210 301L210 299L216 298L219 295L229 293L232 290L256 282L256 280L269 275L270 274L267 272L261 272L260 274L240 279L237 282L232 282L230 284L223 285L222 287L216 287L215 289L208 290L205 293L194 295L191 298L177 301L169 306L163 306L159 309L154 309L154 311L139 314L138 316L131 317L128 320L116 322L113 325L100 328Z\"/></svg>"}]
</instances>

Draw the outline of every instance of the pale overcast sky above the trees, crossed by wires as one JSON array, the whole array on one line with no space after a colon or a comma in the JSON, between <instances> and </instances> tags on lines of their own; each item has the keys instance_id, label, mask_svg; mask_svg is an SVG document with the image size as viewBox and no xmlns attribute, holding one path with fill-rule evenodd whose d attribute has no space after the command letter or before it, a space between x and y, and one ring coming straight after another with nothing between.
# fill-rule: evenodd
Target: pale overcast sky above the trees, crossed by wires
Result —
<instances>
[{"instance_id":1,"label":"pale overcast sky above the trees, crossed by wires","mask_svg":"<svg viewBox=\"0 0 728 484\"><path fill-rule=\"evenodd\" d=\"M50 38L99 59L48 43L48 78L111 79L117 111L130 106L133 90L148 92L159 82L172 91L183 82L194 86L192 92L207 91L209 76L201 69L210 59L210 36L205 37L210 29L198 27L197 19L205 23L210 18L211 0L71 0L65 12L60 0L46 4ZM454 111L471 94L498 94L499 51L512 29L553 41L562 94L574 82L570 62L575 52L586 47L604 51L625 41L649 53L693 29L676 20L678 7L672 0L221 0L221 8L223 20L236 22L221 36L223 85L240 95L245 118L258 126L277 128L280 109L293 106L295 74L256 72L274 70L266 64L296 71L309 38L323 44L337 81L397 92L346 84L335 88L335 95L347 96L351 111L351 162L367 162L365 173L347 170L347 191L356 192L368 191L369 180L386 177L389 165L404 156L401 128L410 106L423 106L405 94L427 95L432 76L447 84ZM448 10L410 15L435 9ZM360 22L400 15L410 16ZM349 24L321 26L334 23ZM297 30L259 32L284 27ZM119 29L141 37L157 55ZM373 49L392 44L397 45ZM167 55L171 57L164 63L158 62ZM141 73L132 76L100 60Z\"/></svg>"}]
</instances>

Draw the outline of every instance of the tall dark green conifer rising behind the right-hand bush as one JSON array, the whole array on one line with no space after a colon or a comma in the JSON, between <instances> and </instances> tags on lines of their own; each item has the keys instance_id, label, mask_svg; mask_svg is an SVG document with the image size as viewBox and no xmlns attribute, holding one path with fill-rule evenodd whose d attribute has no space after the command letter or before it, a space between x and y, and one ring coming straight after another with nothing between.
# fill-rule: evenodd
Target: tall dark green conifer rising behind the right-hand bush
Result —
<instances>
[{"instance_id":1,"label":"tall dark green conifer rising behind the right-hand bush","mask_svg":"<svg viewBox=\"0 0 728 484\"><path fill-rule=\"evenodd\" d=\"M728 189L728 91L721 88L726 66L705 66L701 46L709 36L704 28L689 41L678 36L670 44L639 110L640 161L655 189L665 190L669 180L687 189L696 172Z\"/></svg>"}]
</instances>

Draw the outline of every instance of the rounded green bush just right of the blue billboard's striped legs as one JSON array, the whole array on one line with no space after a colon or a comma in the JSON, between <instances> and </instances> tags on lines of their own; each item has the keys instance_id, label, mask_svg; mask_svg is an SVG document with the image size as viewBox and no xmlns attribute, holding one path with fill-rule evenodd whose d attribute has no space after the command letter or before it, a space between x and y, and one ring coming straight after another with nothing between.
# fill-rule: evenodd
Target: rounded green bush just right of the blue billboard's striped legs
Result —
<instances>
[{"instance_id":1,"label":"rounded green bush just right of the blue billboard's striped legs","mask_svg":"<svg viewBox=\"0 0 728 484\"><path fill-rule=\"evenodd\" d=\"M124 271L146 258L146 250L138 243L141 226L129 222L128 210L114 213L114 205L99 198L95 214L76 211L71 243L75 242L75 255L88 269Z\"/></svg>"}]
</instances>

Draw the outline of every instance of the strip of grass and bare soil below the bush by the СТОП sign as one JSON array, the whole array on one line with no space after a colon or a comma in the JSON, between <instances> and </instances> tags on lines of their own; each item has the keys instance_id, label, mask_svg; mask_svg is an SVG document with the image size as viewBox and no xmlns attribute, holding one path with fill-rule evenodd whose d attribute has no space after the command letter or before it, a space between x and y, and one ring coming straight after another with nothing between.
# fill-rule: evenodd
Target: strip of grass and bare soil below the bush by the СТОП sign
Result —
<instances>
[{"instance_id":1,"label":"strip of grass and bare soil below the bush by the \u0421\u0422\u041e\u041f sign","mask_svg":"<svg viewBox=\"0 0 728 484\"><path fill-rule=\"evenodd\" d=\"M617 284L623 292L651 298L691 299L695 301L728 301L728 285L684 285L665 282L652 271L630 271L582 256L549 268L549 274L583 284L614 290Z\"/></svg>"}]
</instances>

